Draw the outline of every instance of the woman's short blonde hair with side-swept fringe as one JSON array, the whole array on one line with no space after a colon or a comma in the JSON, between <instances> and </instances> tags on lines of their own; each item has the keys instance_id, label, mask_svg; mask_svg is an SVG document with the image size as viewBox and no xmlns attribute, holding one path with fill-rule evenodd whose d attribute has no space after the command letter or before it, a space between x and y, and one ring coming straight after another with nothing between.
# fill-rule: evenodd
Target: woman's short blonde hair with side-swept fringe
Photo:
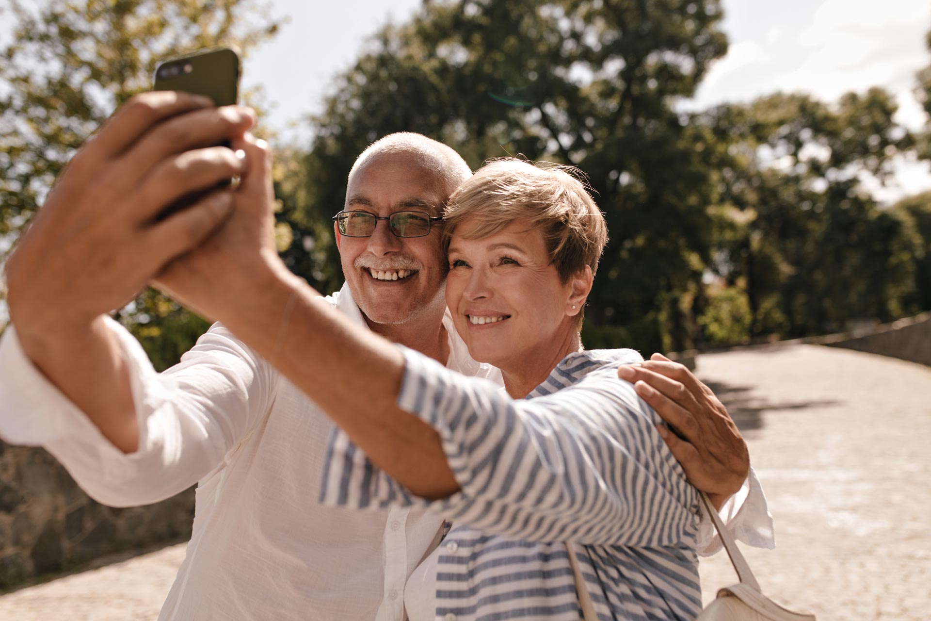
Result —
<instances>
[{"instance_id":1,"label":"woman's short blonde hair with side-swept fringe","mask_svg":"<svg viewBox=\"0 0 931 621\"><path fill-rule=\"evenodd\" d=\"M514 157L491 160L450 197L443 212L447 243L466 220L469 239L528 220L543 233L549 260L563 283L586 265L594 276L608 243L608 226L581 176L573 166L532 164ZM582 314L578 317L581 323Z\"/></svg>"}]
</instances>

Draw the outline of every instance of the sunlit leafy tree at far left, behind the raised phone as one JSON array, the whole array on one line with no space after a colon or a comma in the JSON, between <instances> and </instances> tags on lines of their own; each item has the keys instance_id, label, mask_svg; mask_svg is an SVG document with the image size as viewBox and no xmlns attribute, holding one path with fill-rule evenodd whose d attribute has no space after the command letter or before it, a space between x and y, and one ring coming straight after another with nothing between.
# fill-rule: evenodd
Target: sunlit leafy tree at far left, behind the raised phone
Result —
<instances>
[{"instance_id":1,"label":"sunlit leafy tree at far left, behind the raised phone","mask_svg":"<svg viewBox=\"0 0 931 621\"><path fill-rule=\"evenodd\" d=\"M0 239L115 107L151 88L158 61L207 47L247 54L279 23L254 0L50 0L36 13L10 0L4 19L15 27L0 50ZM154 291L122 318L160 368L206 325Z\"/></svg>"}]
</instances>

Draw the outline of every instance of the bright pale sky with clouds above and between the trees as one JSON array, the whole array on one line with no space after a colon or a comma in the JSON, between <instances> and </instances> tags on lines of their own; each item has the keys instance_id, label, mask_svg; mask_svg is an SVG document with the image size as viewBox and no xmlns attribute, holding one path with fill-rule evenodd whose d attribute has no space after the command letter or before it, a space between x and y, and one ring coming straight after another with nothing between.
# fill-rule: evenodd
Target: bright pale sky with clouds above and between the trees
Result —
<instances>
[{"instance_id":1,"label":"bright pale sky with clouds above and between the trees","mask_svg":"<svg viewBox=\"0 0 931 621\"><path fill-rule=\"evenodd\" d=\"M351 66L370 34L387 20L407 20L421 4L273 1L274 13L290 16L290 23L246 61L243 84L263 86L274 105L267 122L284 140L309 135L300 120L321 111L332 77ZM749 101L775 90L803 90L832 101L849 90L882 86L896 93L901 122L924 125L912 89L914 74L931 63L924 47L931 29L927 0L723 0L723 6L727 56L713 66L695 100L682 102L684 108ZM875 185L873 192L894 201L927 189L928 164L900 162L896 180Z\"/></svg>"}]
</instances>

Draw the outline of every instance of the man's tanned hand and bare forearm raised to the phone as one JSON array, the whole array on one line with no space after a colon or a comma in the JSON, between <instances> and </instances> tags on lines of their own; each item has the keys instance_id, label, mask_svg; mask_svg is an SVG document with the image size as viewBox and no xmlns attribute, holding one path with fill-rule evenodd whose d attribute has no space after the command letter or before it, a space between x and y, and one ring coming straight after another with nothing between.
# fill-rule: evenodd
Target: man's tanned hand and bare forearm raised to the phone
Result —
<instances>
[{"instance_id":1,"label":"man's tanned hand and bare forearm raised to the phone","mask_svg":"<svg viewBox=\"0 0 931 621\"><path fill-rule=\"evenodd\" d=\"M139 428L104 314L226 220L229 190L156 216L241 172L232 150L210 145L241 136L254 120L247 109L214 108L185 93L134 97L74 155L7 262L23 352L123 452L136 451Z\"/></svg>"}]
</instances>

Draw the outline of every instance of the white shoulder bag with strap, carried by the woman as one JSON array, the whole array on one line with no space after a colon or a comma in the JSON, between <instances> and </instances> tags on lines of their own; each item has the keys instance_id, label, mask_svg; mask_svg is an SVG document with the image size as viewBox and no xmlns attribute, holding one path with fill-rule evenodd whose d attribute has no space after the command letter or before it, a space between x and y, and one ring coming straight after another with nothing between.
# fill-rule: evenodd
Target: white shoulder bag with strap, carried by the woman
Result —
<instances>
[{"instance_id":1,"label":"white shoulder bag with strap, carried by the woman","mask_svg":"<svg viewBox=\"0 0 931 621\"><path fill-rule=\"evenodd\" d=\"M762 594L760 585L750 572L747 560L744 560L744 556L737 549L734 537L724 527L708 496L702 493L701 497L721 537L724 549L727 550L727 556L734 564L740 582L719 590L715 601L708 604L708 608L703 610L695 621L815 621L814 614L793 613ZM568 543L566 550L569 552L569 563L573 566L575 574L575 590L578 591L579 603L582 606L582 618L584 621L598 621L585 579L579 569L578 559L575 558L575 551Z\"/></svg>"}]
</instances>

